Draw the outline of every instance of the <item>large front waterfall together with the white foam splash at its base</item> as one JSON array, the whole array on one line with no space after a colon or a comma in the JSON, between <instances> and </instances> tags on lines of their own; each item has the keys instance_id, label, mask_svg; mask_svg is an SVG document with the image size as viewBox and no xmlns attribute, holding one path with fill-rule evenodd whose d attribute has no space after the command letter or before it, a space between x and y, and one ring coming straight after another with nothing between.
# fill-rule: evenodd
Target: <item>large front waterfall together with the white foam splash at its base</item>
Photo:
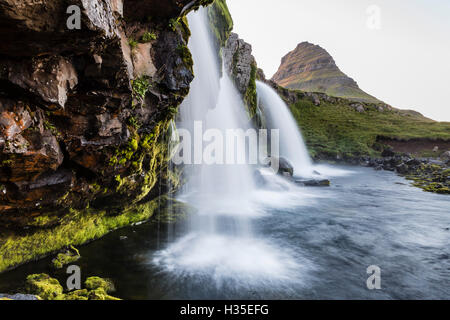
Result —
<instances>
[{"instance_id":1,"label":"large front waterfall together with the white foam splash at its base","mask_svg":"<svg viewBox=\"0 0 450 320\"><path fill-rule=\"evenodd\" d=\"M248 116L229 76L224 71L220 77L206 9L190 13L188 21L195 79L180 106L177 127L195 135L194 121L201 121L203 131L213 129L223 136L227 130L245 131ZM245 154L246 148L235 144L234 150L225 149L224 153L230 151ZM185 166L185 170L188 183L179 198L193 205L198 214L191 218L185 237L156 254L156 265L179 276L243 280L239 285L287 279L298 271L289 254L252 232L251 222L261 214L261 205L255 201L254 168L247 164L203 163Z\"/></svg>"}]
</instances>

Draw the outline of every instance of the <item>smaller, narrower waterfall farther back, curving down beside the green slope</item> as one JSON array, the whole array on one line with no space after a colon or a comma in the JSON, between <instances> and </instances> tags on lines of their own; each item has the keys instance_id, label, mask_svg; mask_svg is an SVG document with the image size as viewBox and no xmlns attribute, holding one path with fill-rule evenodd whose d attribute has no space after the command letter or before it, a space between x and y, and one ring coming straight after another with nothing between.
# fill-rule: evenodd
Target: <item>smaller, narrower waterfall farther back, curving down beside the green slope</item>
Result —
<instances>
[{"instance_id":1,"label":"smaller, narrower waterfall farther back, curving down beside the green slope","mask_svg":"<svg viewBox=\"0 0 450 320\"><path fill-rule=\"evenodd\" d=\"M277 92L263 82L256 82L259 104L265 112L268 129L280 130L280 155L294 166L294 174L313 176L313 164L288 106Z\"/></svg>"}]
</instances>

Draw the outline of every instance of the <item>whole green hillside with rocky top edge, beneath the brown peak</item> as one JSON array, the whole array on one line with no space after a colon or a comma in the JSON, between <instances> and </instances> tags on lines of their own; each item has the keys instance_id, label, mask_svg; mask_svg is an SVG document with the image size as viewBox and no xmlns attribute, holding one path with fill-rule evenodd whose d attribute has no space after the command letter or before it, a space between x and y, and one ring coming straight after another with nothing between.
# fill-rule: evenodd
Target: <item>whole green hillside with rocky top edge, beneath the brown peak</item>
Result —
<instances>
[{"instance_id":1,"label":"whole green hillside with rocky top edge, beneath the brown peak","mask_svg":"<svg viewBox=\"0 0 450 320\"><path fill-rule=\"evenodd\" d=\"M416 156L438 156L450 150L450 123L420 113L375 103L355 103L320 93L274 86L288 103L316 159L379 156L386 145ZM437 153L433 149L439 147Z\"/></svg>"}]
</instances>

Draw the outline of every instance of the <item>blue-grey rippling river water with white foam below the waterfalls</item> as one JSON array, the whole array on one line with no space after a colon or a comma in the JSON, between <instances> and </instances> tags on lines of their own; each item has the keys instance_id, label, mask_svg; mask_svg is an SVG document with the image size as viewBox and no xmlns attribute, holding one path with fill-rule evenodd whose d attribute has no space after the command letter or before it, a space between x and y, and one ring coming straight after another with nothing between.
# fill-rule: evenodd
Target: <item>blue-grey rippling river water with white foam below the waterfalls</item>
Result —
<instances>
[{"instance_id":1,"label":"blue-grey rippling river water with white foam below the waterfalls","mask_svg":"<svg viewBox=\"0 0 450 320\"><path fill-rule=\"evenodd\" d=\"M209 263L200 261L194 245L184 248L191 269L177 261L173 268L155 263L176 251L174 242L189 241L189 228L177 225L168 237L149 223L82 247L77 264L84 277L111 278L115 294L125 299L448 298L450 198L423 192L391 172L340 169L345 172L330 188L262 195L264 208L252 218L259 237L205 239ZM50 272L49 263L1 274L0 292L14 291L27 274ZM367 289L370 265L381 268L381 290ZM64 271L53 275L65 283Z\"/></svg>"}]
</instances>

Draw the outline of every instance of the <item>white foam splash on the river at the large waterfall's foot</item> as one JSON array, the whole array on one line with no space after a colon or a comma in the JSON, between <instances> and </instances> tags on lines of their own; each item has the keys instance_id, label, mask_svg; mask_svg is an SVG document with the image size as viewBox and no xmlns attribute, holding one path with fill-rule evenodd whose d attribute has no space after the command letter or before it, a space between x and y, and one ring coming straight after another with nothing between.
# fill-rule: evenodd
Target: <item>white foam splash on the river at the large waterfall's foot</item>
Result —
<instances>
[{"instance_id":1,"label":"white foam splash on the river at the large waterfall's foot","mask_svg":"<svg viewBox=\"0 0 450 320\"><path fill-rule=\"evenodd\" d=\"M191 233L153 259L156 265L177 276L206 275L218 281L227 278L247 285L267 281L295 281L309 268L300 265L288 250L254 237L230 237Z\"/></svg>"}]
</instances>

